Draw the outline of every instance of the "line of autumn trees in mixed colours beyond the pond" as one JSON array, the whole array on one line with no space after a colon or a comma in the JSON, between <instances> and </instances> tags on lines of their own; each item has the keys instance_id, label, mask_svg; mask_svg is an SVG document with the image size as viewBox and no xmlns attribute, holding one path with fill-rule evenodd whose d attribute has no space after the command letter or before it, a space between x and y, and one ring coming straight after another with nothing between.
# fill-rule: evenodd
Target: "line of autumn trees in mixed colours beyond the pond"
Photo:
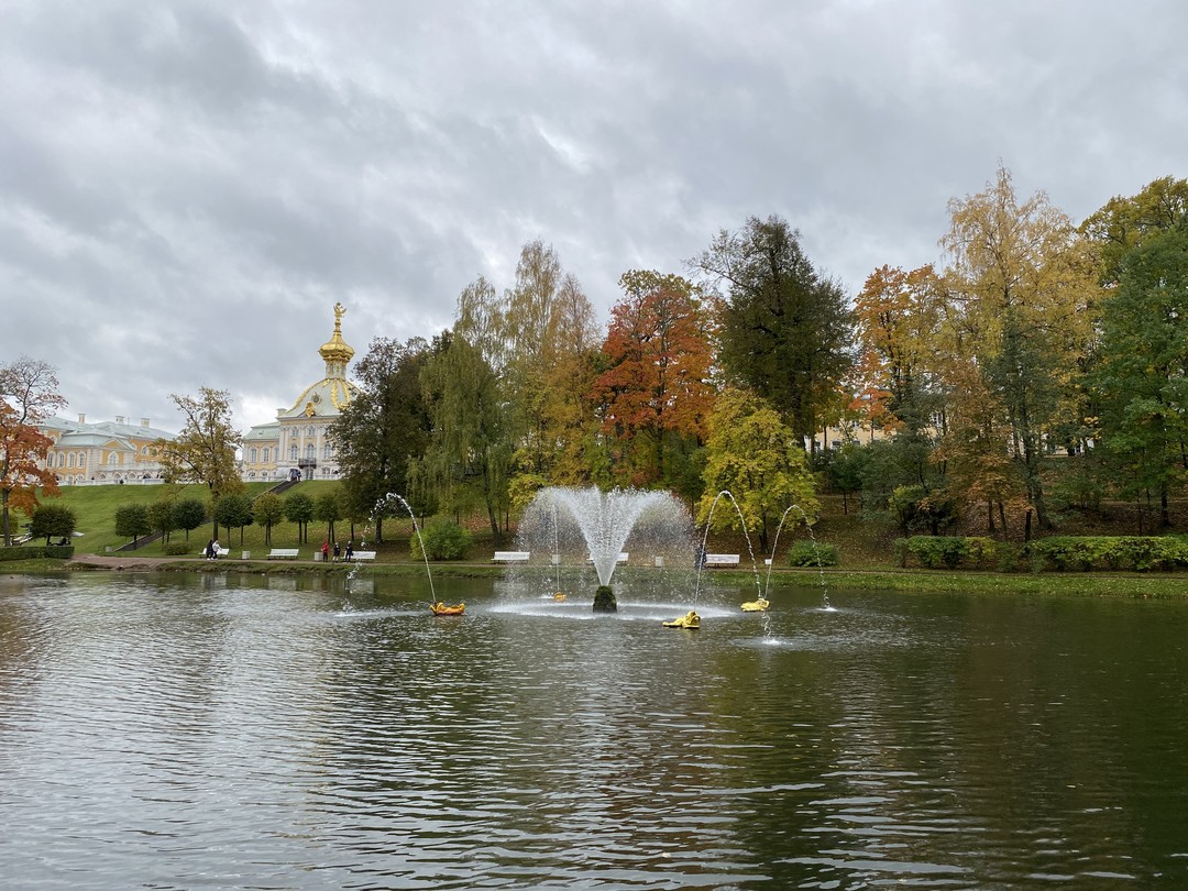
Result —
<instances>
[{"instance_id":1,"label":"line of autumn trees in mixed colours beyond the pond","mask_svg":"<svg viewBox=\"0 0 1188 891\"><path fill-rule=\"evenodd\" d=\"M853 301L785 220L751 217L681 272L625 272L605 330L556 251L525 245L503 290L461 291L450 329L377 339L355 365L331 429L341 512L396 492L422 516L482 514L498 543L548 485L665 488L699 522L729 489L766 548L824 485L905 532L1030 535L1116 499L1169 526L1188 475L1188 181L1078 225L1000 168L948 211L943 264L879 266ZM6 535L10 504L53 486L29 429L61 397L23 362L0 369ZM166 476L235 494L228 394L173 399Z\"/></svg>"}]
</instances>

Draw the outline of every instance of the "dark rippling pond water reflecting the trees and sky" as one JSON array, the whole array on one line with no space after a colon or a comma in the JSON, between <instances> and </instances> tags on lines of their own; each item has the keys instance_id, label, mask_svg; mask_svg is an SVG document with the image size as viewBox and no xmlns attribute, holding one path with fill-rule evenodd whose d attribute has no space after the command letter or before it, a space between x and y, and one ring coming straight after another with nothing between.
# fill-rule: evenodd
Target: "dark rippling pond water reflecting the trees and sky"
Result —
<instances>
[{"instance_id":1,"label":"dark rippling pond water reflecting the trees and sky","mask_svg":"<svg viewBox=\"0 0 1188 891\"><path fill-rule=\"evenodd\" d=\"M1188 886L1183 604L360 587L0 580L0 885Z\"/></svg>"}]
</instances>

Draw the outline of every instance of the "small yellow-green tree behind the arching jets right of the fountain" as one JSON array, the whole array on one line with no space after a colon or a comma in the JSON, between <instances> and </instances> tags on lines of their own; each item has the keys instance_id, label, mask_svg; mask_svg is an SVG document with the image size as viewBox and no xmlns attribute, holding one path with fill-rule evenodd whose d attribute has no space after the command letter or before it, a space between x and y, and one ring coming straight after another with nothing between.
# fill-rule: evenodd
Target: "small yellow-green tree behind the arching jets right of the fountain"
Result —
<instances>
[{"instance_id":1,"label":"small yellow-green tree behind the arching jets right of the fountain","mask_svg":"<svg viewBox=\"0 0 1188 891\"><path fill-rule=\"evenodd\" d=\"M709 424L706 493L697 513L699 523L713 520L710 529L739 529L739 512L733 510L716 510L710 518L722 491L734 497L746 531L758 533L764 552L792 505L807 523L820 511L803 447L778 412L747 391L727 390L718 398Z\"/></svg>"}]
</instances>

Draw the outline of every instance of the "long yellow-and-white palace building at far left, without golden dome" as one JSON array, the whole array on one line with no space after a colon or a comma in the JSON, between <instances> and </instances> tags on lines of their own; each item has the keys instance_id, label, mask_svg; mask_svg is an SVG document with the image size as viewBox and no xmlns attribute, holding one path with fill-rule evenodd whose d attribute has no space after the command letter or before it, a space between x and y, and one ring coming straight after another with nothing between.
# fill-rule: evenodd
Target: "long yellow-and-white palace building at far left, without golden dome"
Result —
<instances>
[{"instance_id":1,"label":"long yellow-and-white palace building at far left, without golden dome","mask_svg":"<svg viewBox=\"0 0 1188 891\"><path fill-rule=\"evenodd\" d=\"M127 424L122 417L89 424L87 416L80 415L77 422L50 418L38 429L53 441L45 467L63 486L160 482L157 441L173 438L173 434L153 428L148 418L140 418L139 425Z\"/></svg>"}]
</instances>

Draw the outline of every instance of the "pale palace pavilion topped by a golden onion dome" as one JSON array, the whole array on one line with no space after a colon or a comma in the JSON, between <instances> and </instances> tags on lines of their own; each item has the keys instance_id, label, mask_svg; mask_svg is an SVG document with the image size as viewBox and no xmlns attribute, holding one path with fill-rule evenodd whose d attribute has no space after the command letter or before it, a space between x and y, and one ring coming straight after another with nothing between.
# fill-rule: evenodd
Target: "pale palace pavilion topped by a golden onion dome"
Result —
<instances>
[{"instance_id":1,"label":"pale palace pavilion topped by a golden onion dome","mask_svg":"<svg viewBox=\"0 0 1188 891\"><path fill-rule=\"evenodd\" d=\"M277 419L253 426L244 435L241 475L244 480L333 480L339 476L339 459L330 442L330 425L350 403L355 390L347 380L347 365L355 350L342 340L346 309L334 304L334 334L318 348L326 362L326 377L310 384L287 409L277 409Z\"/></svg>"}]
</instances>

